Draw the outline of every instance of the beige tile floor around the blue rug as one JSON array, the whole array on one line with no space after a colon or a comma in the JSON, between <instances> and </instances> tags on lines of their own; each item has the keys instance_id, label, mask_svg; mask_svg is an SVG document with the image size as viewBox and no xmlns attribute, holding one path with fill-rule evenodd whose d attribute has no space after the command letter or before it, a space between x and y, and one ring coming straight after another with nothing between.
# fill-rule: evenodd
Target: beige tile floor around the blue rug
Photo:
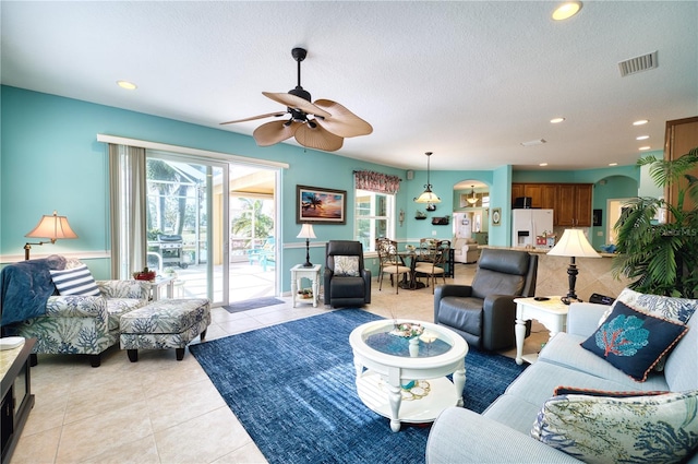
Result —
<instances>
[{"instance_id":1,"label":"beige tile floor around the blue rug","mask_svg":"<svg viewBox=\"0 0 698 464\"><path fill-rule=\"evenodd\" d=\"M469 283L473 270L458 264L454 281ZM396 295L386 283L378 292L375 278L372 287L368 311L433 320L430 288ZM290 297L281 299L284 305L234 314L214 308L206 340L330 311L322 304L292 308ZM535 324L525 353L546 338ZM75 356L40 355L32 389L36 404L12 464L266 462L189 352L177 361L173 350L142 350L130 362L117 346L103 355L99 368Z\"/></svg>"}]
</instances>

